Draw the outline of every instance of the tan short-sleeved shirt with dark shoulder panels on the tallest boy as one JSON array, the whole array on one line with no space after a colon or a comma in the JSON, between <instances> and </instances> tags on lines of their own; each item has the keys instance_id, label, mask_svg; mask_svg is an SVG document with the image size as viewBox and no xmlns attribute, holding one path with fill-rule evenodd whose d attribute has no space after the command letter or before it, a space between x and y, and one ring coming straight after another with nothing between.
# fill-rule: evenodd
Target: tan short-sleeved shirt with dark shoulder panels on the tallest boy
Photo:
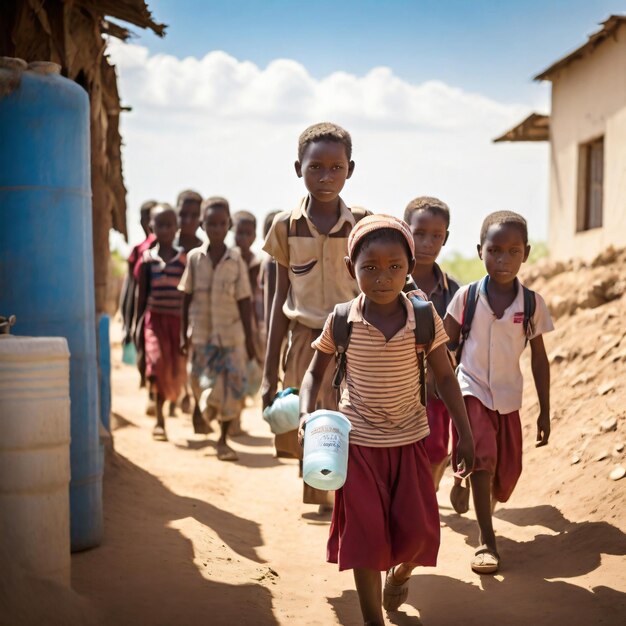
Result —
<instances>
[{"instance_id":1,"label":"tan short-sleeved shirt with dark shoulder panels on the tallest boy","mask_svg":"<svg viewBox=\"0 0 626 626\"><path fill-rule=\"evenodd\" d=\"M321 234L307 213L308 196L291 213L274 218L263 250L289 272L289 292L283 306L288 319L309 328L322 328L338 302L358 294L346 268L348 235L355 218L342 200L339 219L327 235Z\"/></svg>"}]
</instances>

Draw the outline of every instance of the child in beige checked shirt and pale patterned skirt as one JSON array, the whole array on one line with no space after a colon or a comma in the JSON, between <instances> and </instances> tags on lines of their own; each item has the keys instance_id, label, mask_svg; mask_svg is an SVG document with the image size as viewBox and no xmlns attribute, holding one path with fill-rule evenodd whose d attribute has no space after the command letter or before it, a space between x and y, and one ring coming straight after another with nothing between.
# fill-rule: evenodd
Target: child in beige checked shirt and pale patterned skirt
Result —
<instances>
[{"instance_id":1,"label":"child in beige checked shirt and pale patterned skirt","mask_svg":"<svg viewBox=\"0 0 626 626\"><path fill-rule=\"evenodd\" d=\"M236 461L226 435L243 408L247 359L255 357L250 281L241 254L224 243L231 227L228 202L208 198L202 209L209 241L189 253L180 281L185 293L180 350L186 355L191 343L194 413L202 411L209 422L220 420L217 458Z\"/></svg>"}]
</instances>

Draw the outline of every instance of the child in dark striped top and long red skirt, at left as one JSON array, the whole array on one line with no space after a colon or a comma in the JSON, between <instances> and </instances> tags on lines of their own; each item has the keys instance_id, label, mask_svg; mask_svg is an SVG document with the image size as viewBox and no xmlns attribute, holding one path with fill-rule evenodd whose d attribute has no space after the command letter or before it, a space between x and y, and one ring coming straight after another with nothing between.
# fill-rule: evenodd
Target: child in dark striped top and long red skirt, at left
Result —
<instances>
[{"instance_id":1,"label":"child in dark striped top and long red skirt, at left","mask_svg":"<svg viewBox=\"0 0 626 626\"><path fill-rule=\"evenodd\" d=\"M143 318L146 378L156 399L156 426L152 436L167 441L163 403L178 398L185 383L185 360L178 350L182 294L178 283L186 255L176 248L176 212L158 204L150 212L156 245L143 253L139 268L137 318Z\"/></svg>"}]
</instances>

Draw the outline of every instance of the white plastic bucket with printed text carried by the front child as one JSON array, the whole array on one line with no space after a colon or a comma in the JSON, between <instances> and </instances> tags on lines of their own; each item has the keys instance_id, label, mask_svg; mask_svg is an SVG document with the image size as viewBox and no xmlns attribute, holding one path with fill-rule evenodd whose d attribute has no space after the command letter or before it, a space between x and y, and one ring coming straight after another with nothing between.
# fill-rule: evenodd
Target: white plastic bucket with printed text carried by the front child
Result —
<instances>
[{"instance_id":1,"label":"white plastic bucket with printed text carried by the front child","mask_svg":"<svg viewBox=\"0 0 626 626\"><path fill-rule=\"evenodd\" d=\"M350 420L338 411L311 413L304 430L304 482L316 489L333 491L346 482Z\"/></svg>"}]
</instances>

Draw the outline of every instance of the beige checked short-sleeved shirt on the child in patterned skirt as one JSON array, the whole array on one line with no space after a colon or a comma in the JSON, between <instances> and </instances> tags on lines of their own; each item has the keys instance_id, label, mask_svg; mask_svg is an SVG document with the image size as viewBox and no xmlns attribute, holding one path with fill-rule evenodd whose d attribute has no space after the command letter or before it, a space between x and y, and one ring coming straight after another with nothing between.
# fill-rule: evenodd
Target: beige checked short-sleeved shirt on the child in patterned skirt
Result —
<instances>
[{"instance_id":1,"label":"beige checked short-sleeved shirt on the child in patterned skirt","mask_svg":"<svg viewBox=\"0 0 626 626\"><path fill-rule=\"evenodd\" d=\"M192 294L189 306L191 343L234 347L245 344L245 335L237 302L250 298L248 267L238 250L226 248L213 267L209 243L190 250L180 291Z\"/></svg>"}]
</instances>

